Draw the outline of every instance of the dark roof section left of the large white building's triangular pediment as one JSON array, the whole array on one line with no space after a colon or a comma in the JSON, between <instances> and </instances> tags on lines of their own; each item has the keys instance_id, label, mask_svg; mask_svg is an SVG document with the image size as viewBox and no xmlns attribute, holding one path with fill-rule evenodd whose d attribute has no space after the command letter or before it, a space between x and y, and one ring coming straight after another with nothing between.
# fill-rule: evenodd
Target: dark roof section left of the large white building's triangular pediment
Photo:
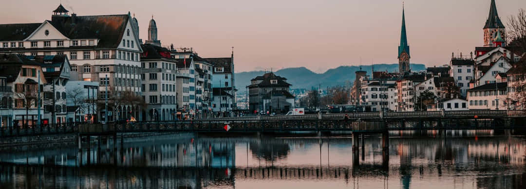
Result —
<instances>
[{"instance_id":1,"label":"dark roof section left of the large white building's triangular pediment","mask_svg":"<svg viewBox=\"0 0 526 189\"><path fill-rule=\"evenodd\" d=\"M29 37L42 23L0 24L0 41L21 41Z\"/></svg>"}]
</instances>

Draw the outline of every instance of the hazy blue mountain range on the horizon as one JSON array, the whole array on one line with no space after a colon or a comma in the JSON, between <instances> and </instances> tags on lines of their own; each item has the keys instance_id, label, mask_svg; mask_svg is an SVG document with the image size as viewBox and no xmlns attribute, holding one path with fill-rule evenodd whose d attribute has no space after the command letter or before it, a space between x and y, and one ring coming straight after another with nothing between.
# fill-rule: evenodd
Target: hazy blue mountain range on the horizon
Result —
<instances>
[{"instance_id":1,"label":"hazy blue mountain range on the horizon","mask_svg":"<svg viewBox=\"0 0 526 189\"><path fill-rule=\"evenodd\" d=\"M369 75L371 73L371 66L340 66L337 68L329 69L323 74L317 74L305 67L299 68L285 68L275 71L275 74L281 77L287 78L287 82L290 83L291 89L311 89L312 87L318 87L321 85L322 88L331 86L343 86L346 85L346 81L352 83L355 80L355 72L360 70L367 71ZM378 64L374 65L375 71L394 72L398 70L398 64ZM426 66L423 64L411 64L413 71L425 70ZM239 92L245 92L245 87L250 85L250 80L256 76L262 76L265 71L245 71L238 72L235 75L236 88Z\"/></svg>"}]
</instances>

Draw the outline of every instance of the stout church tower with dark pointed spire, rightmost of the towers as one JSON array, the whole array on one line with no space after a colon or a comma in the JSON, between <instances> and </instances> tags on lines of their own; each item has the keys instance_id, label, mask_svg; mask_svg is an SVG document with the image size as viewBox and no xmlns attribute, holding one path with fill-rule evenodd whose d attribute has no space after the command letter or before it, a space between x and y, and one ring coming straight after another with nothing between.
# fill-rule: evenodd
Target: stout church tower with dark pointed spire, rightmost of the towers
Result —
<instances>
[{"instance_id":1,"label":"stout church tower with dark pointed spire, rightmost of the towers","mask_svg":"<svg viewBox=\"0 0 526 189\"><path fill-rule=\"evenodd\" d=\"M500 35L500 37L497 35ZM497 43L495 43L495 40L502 40L505 38L505 27L500 21L499 14L497 13L495 0L491 0L490 14L488 16L488 20L486 20L486 24L484 25L484 47L496 47L497 45L505 46L505 42L500 43L502 41L497 41Z\"/></svg>"}]
</instances>

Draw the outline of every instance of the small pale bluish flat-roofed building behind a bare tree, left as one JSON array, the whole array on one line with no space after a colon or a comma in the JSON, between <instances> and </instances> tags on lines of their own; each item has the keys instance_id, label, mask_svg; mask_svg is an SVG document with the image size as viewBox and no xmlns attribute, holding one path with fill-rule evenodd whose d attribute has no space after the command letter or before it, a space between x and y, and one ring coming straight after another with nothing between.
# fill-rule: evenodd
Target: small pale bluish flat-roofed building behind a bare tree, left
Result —
<instances>
[{"instance_id":1,"label":"small pale bluish flat-roofed building behind a bare tree, left","mask_svg":"<svg viewBox=\"0 0 526 189\"><path fill-rule=\"evenodd\" d=\"M96 81L68 81L66 83L67 122L95 121L97 114L96 100L98 97L99 83ZM105 120L105 117L101 117Z\"/></svg>"}]
</instances>

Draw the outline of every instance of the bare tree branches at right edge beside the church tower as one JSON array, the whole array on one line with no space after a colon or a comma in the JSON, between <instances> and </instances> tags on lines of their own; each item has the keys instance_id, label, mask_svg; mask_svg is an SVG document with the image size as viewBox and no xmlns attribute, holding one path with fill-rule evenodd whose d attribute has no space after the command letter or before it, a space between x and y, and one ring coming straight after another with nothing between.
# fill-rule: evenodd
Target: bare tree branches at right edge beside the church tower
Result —
<instances>
[{"instance_id":1,"label":"bare tree branches at right edge beside the church tower","mask_svg":"<svg viewBox=\"0 0 526 189\"><path fill-rule=\"evenodd\" d=\"M521 8L509 17L507 37L509 46L517 47L521 55L526 53L526 10Z\"/></svg>"}]
</instances>

